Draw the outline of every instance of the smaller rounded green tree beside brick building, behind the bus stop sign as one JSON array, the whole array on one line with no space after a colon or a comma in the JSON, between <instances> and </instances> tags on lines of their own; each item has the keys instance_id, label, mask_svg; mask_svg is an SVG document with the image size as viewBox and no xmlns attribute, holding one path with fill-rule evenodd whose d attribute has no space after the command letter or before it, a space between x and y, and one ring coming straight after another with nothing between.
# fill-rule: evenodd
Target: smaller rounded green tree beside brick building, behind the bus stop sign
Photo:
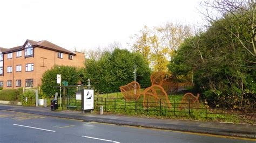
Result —
<instances>
[{"instance_id":1,"label":"smaller rounded green tree beside brick building, behind the bus stop sign","mask_svg":"<svg viewBox=\"0 0 256 143\"><path fill-rule=\"evenodd\" d=\"M62 81L68 81L69 85L76 85L77 82L82 81L83 74L82 69L71 66L53 66L51 69L46 70L42 76L42 90L48 97L55 95L55 92L59 92L56 88L57 74L62 75Z\"/></svg>"}]
</instances>

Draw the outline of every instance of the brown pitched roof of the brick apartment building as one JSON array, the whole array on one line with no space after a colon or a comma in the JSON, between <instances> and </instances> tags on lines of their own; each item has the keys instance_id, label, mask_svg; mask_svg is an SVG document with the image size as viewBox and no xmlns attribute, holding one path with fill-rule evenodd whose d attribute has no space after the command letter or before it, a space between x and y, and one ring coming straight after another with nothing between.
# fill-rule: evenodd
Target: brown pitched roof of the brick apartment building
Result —
<instances>
[{"instance_id":1,"label":"brown pitched roof of the brick apartment building","mask_svg":"<svg viewBox=\"0 0 256 143\"><path fill-rule=\"evenodd\" d=\"M46 41L46 40L37 42L37 41L33 41L33 40L28 39L28 40L26 40L26 42L30 42L30 44L33 47L41 47L41 48L49 49L49 50L52 50L52 51L58 51L58 52L63 52L63 53L71 54L71 55L76 55L75 53L69 51L68 49L62 48L62 47L60 47L58 45L55 45L55 44L52 44L51 42ZM26 42L25 42L25 44L26 44ZM17 47L9 48L9 49L1 48L0 50L2 50L2 52L9 53L9 52L12 52L12 51L17 51L19 49L22 49L23 46L17 46Z\"/></svg>"}]
</instances>

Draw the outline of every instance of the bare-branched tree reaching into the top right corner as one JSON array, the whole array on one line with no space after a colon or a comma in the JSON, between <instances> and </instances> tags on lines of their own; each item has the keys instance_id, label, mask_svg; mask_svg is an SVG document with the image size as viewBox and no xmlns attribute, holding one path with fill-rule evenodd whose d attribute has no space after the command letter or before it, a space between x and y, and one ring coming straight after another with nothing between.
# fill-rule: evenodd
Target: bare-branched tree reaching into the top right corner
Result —
<instances>
[{"instance_id":1,"label":"bare-branched tree reaching into the top right corner","mask_svg":"<svg viewBox=\"0 0 256 143\"><path fill-rule=\"evenodd\" d=\"M254 57L256 63L256 4L255 0L214 0L202 3L204 16L222 30L230 33L232 40L238 40L241 48ZM224 21L221 19L225 19ZM235 47L237 48L237 47Z\"/></svg>"}]
</instances>

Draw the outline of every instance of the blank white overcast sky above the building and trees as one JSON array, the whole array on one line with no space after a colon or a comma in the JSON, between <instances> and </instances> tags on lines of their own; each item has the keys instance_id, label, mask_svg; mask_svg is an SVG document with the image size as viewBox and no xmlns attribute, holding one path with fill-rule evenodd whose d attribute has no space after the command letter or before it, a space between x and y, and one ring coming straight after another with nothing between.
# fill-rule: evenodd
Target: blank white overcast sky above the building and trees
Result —
<instances>
[{"instance_id":1,"label":"blank white overcast sky above the building and trees","mask_svg":"<svg viewBox=\"0 0 256 143\"><path fill-rule=\"evenodd\" d=\"M0 47L21 46L30 39L48 40L71 51L106 47L114 41L129 48L126 43L144 25L201 23L199 2L0 0Z\"/></svg>"}]
</instances>

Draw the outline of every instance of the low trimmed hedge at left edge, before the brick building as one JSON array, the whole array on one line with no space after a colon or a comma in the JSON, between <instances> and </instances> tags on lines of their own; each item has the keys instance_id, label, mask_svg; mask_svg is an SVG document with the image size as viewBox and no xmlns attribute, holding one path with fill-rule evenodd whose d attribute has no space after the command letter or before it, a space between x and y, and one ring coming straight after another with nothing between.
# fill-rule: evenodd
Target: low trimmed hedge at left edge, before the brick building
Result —
<instances>
[{"instance_id":1,"label":"low trimmed hedge at left edge, before the brick building","mask_svg":"<svg viewBox=\"0 0 256 143\"><path fill-rule=\"evenodd\" d=\"M1 101L16 101L18 99L19 90L17 89L3 89L0 91Z\"/></svg>"}]
</instances>

